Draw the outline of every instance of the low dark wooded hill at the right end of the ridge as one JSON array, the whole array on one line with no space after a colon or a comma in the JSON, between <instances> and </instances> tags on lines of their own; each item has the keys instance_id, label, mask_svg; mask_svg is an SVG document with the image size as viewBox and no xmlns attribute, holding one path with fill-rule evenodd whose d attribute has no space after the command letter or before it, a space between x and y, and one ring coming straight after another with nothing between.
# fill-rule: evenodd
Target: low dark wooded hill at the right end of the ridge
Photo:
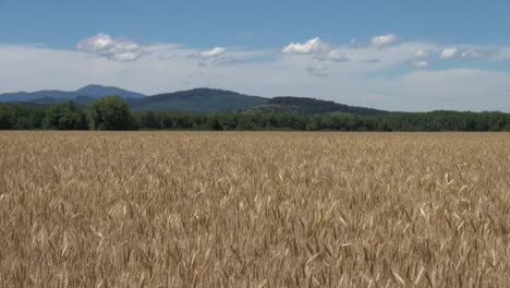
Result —
<instances>
[{"instance_id":1,"label":"low dark wooded hill at the right end of the ridge","mask_svg":"<svg viewBox=\"0 0 510 288\"><path fill-rule=\"evenodd\" d=\"M286 112L300 115L325 115L325 113L354 113L354 115L384 115L389 111L373 108L349 106L335 101L320 100L306 97L275 97L266 105L253 107L251 112Z\"/></svg>"}]
</instances>

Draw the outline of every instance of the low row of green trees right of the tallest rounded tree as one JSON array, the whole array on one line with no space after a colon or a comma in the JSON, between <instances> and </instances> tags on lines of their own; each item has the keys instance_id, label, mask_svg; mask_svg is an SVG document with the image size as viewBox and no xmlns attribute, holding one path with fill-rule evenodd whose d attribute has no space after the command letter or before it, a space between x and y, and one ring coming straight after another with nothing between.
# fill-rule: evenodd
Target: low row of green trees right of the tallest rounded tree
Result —
<instances>
[{"instance_id":1,"label":"low row of green trees right of the tallest rounded tree","mask_svg":"<svg viewBox=\"0 0 510 288\"><path fill-rule=\"evenodd\" d=\"M434 111L382 116L295 113L135 113L139 129L293 131L510 131L510 115Z\"/></svg>"}]
</instances>

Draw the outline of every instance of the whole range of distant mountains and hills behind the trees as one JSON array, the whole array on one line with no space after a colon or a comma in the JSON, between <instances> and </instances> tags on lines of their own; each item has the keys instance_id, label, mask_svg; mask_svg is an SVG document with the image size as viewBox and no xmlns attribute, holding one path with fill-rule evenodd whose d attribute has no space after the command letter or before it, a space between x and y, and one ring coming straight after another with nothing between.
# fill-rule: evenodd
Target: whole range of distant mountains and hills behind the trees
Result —
<instances>
[{"instance_id":1,"label":"whole range of distant mountains and hills behind the trees","mask_svg":"<svg viewBox=\"0 0 510 288\"><path fill-rule=\"evenodd\" d=\"M384 115L389 111L349 106L330 100L306 97L265 98L216 88L194 88L173 93L145 96L118 87L88 85L74 92L38 91L0 94L0 103L29 105L54 105L74 101L87 106L94 99L118 95L123 97L134 111L174 111L192 113L248 112L248 113L298 113L327 115L353 113L362 116Z\"/></svg>"}]
</instances>

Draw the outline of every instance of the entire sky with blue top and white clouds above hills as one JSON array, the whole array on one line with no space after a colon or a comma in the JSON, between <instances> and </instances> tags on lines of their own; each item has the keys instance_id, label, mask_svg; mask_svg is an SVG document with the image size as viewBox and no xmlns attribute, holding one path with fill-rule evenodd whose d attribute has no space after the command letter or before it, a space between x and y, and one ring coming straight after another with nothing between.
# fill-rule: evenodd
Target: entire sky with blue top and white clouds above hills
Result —
<instances>
[{"instance_id":1,"label":"entire sky with blue top and white clouds above hills","mask_svg":"<svg viewBox=\"0 0 510 288\"><path fill-rule=\"evenodd\" d=\"M510 111L509 15L509 0L0 0L0 92L211 86Z\"/></svg>"}]
</instances>

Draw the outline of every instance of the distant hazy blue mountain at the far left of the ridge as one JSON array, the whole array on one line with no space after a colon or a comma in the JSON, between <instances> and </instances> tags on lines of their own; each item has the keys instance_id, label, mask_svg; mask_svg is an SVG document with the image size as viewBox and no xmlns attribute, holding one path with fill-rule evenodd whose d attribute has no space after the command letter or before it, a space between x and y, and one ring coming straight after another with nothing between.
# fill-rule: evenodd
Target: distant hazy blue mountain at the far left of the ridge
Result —
<instances>
[{"instance_id":1,"label":"distant hazy blue mountain at the far left of the ridge","mask_svg":"<svg viewBox=\"0 0 510 288\"><path fill-rule=\"evenodd\" d=\"M33 93L17 92L0 94L0 103L35 103L35 104L54 104L64 100L77 100L80 97L99 98L106 95L119 95L126 99L143 98L145 95L134 93L117 87L100 85L88 85L77 91L37 91Z\"/></svg>"}]
</instances>

